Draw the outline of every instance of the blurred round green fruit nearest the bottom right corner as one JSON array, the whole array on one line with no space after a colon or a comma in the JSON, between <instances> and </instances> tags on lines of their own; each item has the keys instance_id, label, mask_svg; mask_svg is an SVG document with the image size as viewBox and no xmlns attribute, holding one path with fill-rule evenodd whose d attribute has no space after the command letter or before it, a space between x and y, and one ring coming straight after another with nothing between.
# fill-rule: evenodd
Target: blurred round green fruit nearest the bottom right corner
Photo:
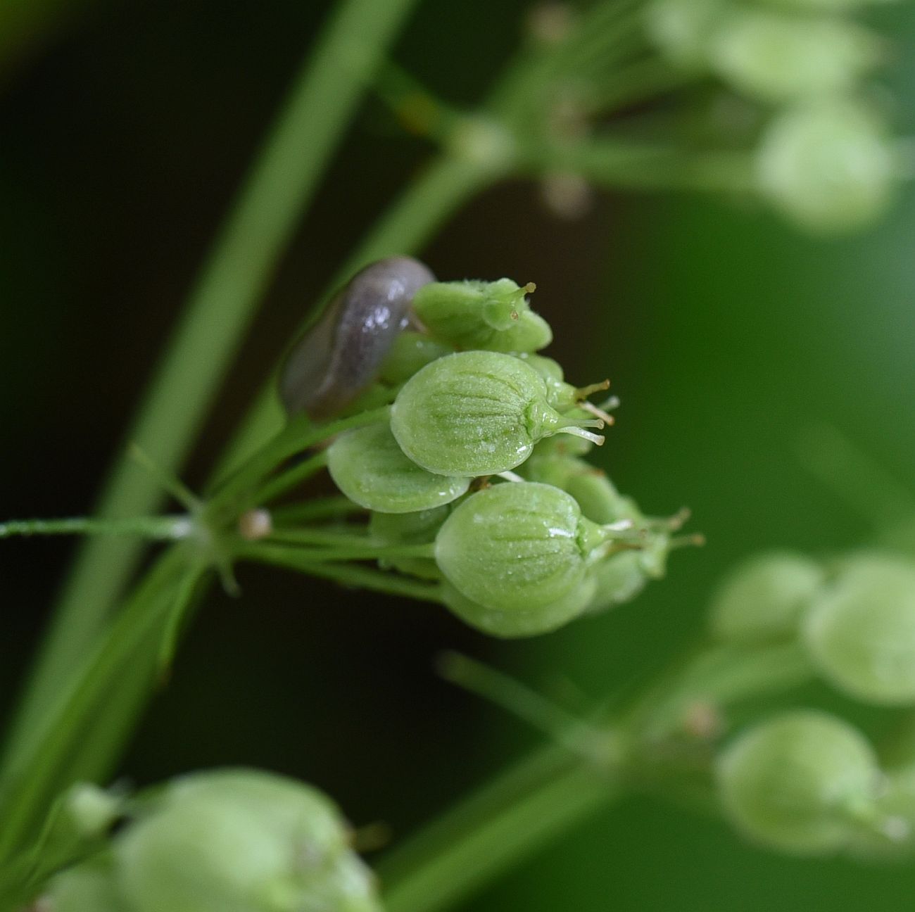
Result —
<instances>
[{"instance_id":1,"label":"blurred round green fruit nearest the bottom right corner","mask_svg":"<svg viewBox=\"0 0 915 912\"><path fill-rule=\"evenodd\" d=\"M748 838L813 855L851 841L873 805L880 770L856 728L795 710L737 737L719 757L716 778L727 816Z\"/></svg>"}]
</instances>

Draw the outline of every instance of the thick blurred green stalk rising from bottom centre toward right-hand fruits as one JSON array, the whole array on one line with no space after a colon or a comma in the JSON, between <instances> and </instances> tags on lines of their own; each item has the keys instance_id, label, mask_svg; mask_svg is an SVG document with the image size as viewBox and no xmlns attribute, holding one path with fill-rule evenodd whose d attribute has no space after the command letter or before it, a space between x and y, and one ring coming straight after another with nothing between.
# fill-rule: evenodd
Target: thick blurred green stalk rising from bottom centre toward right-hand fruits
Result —
<instances>
[{"instance_id":1,"label":"thick blurred green stalk rising from bottom centre toward right-hand fruits","mask_svg":"<svg viewBox=\"0 0 915 912\"><path fill-rule=\"evenodd\" d=\"M737 668L734 662L737 661ZM652 683L610 726L605 762L559 746L536 750L389 853L378 873L387 912L437 912L543 848L631 789L657 739L670 735L697 699L717 710L813 676L797 644L711 647ZM596 728L597 728L596 724ZM615 736L610 739L610 733ZM595 743L601 739L595 739ZM619 750L621 746L625 749Z\"/></svg>"}]
</instances>

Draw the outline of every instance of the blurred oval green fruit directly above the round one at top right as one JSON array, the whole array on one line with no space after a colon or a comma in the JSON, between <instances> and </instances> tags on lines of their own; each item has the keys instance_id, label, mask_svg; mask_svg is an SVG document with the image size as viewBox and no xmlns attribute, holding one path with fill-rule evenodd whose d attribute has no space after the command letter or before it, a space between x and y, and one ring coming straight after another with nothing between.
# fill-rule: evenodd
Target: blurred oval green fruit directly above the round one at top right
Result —
<instances>
[{"instance_id":1,"label":"blurred oval green fruit directly above the round one at top right","mask_svg":"<svg viewBox=\"0 0 915 912\"><path fill-rule=\"evenodd\" d=\"M784 102L852 88L879 61L880 44L842 19L735 8L716 28L709 59L738 91Z\"/></svg>"}]
</instances>

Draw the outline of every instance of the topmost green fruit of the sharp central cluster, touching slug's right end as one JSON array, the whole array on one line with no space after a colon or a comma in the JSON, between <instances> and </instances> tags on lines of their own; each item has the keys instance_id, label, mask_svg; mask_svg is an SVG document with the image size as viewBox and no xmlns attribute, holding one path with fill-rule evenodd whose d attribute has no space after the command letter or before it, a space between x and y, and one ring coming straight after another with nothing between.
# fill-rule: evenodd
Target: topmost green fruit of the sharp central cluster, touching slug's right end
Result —
<instances>
[{"instance_id":1,"label":"topmost green fruit of the sharp central cluster, touching slug's right end","mask_svg":"<svg viewBox=\"0 0 915 912\"><path fill-rule=\"evenodd\" d=\"M553 331L538 317L519 287L498 282L434 282L414 295L413 309L436 338L458 349L537 351L553 341Z\"/></svg>"}]
</instances>

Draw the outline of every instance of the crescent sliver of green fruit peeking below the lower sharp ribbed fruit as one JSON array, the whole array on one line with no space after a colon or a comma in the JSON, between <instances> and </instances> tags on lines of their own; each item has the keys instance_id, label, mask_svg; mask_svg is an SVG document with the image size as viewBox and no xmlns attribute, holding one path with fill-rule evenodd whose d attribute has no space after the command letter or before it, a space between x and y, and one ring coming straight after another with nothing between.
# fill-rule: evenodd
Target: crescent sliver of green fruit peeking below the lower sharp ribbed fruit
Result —
<instances>
[{"instance_id":1,"label":"crescent sliver of green fruit peeking below the lower sharp ribbed fruit","mask_svg":"<svg viewBox=\"0 0 915 912\"><path fill-rule=\"evenodd\" d=\"M446 580L442 584L442 601L462 621L490 637L536 637L564 627L582 614L594 597L595 585L596 581L588 575L571 592L549 605L530 611L498 611L471 601Z\"/></svg>"}]
</instances>

